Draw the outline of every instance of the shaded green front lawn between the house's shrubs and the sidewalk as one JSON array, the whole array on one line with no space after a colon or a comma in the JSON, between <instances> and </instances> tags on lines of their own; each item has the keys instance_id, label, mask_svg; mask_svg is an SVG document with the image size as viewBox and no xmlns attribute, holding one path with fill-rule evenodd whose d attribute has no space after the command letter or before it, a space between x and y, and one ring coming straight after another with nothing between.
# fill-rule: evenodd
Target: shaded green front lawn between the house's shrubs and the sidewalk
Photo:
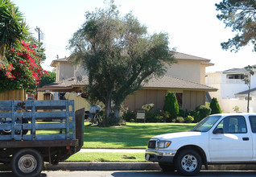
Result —
<instances>
[{"instance_id":1,"label":"shaded green front lawn between the house's shrubs and the sidewalk","mask_svg":"<svg viewBox=\"0 0 256 177\"><path fill-rule=\"evenodd\" d=\"M148 140L158 134L191 130L195 124L130 123L122 127L97 127L85 123L84 148L147 148Z\"/></svg>"}]
</instances>

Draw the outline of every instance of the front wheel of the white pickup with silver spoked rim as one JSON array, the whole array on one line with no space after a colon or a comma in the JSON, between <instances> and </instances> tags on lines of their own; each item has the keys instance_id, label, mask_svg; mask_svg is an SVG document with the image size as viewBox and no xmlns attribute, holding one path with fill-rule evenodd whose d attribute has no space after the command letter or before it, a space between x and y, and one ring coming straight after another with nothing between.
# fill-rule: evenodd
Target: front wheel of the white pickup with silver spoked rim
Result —
<instances>
[{"instance_id":1,"label":"front wheel of the white pickup with silver spoked rim","mask_svg":"<svg viewBox=\"0 0 256 177\"><path fill-rule=\"evenodd\" d=\"M202 167L202 158L196 150L181 150L175 158L175 168L182 175L196 175Z\"/></svg>"}]
</instances>

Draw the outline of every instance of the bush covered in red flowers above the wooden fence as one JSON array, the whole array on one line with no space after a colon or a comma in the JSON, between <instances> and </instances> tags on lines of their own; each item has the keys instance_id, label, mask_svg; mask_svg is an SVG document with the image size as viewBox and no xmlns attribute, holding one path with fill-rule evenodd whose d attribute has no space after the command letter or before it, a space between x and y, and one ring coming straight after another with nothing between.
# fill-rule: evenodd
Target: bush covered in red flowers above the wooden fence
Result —
<instances>
[{"instance_id":1,"label":"bush covered in red flowers above the wooden fence","mask_svg":"<svg viewBox=\"0 0 256 177\"><path fill-rule=\"evenodd\" d=\"M19 49L11 48L6 51L5 58L0 63L0 92L6 89L35 91L40 77L47 74L40 65L42 59L35 50L36 47L22 40Z\"/></svg>"}]
</instances>

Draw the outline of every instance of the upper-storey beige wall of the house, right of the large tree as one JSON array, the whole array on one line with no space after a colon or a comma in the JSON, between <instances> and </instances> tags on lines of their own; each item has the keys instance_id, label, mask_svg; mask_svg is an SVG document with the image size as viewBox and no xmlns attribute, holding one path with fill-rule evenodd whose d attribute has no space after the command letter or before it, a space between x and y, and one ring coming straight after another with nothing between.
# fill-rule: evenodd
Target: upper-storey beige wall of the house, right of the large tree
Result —
<instances>
[{"instance_id":1,"label":"upper-storey beige wall of the house, right of the large tree","mask_svg":"<svg viewBox=\"0 0 256 177\"><path fill-rule=\"evenodd\" d=\"M196 60L177 60L177 64L167 66L167 75L175 76L180 79L201 83L201 64Z\"/></svg>"}]
</instances>

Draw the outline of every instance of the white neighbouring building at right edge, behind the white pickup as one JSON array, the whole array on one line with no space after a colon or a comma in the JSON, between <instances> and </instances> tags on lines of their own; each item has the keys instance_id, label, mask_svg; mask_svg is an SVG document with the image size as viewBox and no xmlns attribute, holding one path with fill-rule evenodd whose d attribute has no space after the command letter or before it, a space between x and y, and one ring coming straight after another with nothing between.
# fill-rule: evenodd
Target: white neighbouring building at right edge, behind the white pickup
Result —
<instances>
[{"instance_id":1,"label":"white neighbouring building at right edge, behind the white pickup","mask_svg":"<svg viewBox=\"0 0 256 177\"><path fill-rule=\"evenodd\" d=\"M233 68L224 72L206 74L206 84L210 87L218 88L217 92L209 94L212 98L217 98L224 112L232 113L235 106L238 106L242 112L247 111L249 87L244 79L248 74L249 72L245 68ZM254 109L256 75L250 78L250 88L250 112L253 112L256 111Z\"/></svg>"}]
</instances>

